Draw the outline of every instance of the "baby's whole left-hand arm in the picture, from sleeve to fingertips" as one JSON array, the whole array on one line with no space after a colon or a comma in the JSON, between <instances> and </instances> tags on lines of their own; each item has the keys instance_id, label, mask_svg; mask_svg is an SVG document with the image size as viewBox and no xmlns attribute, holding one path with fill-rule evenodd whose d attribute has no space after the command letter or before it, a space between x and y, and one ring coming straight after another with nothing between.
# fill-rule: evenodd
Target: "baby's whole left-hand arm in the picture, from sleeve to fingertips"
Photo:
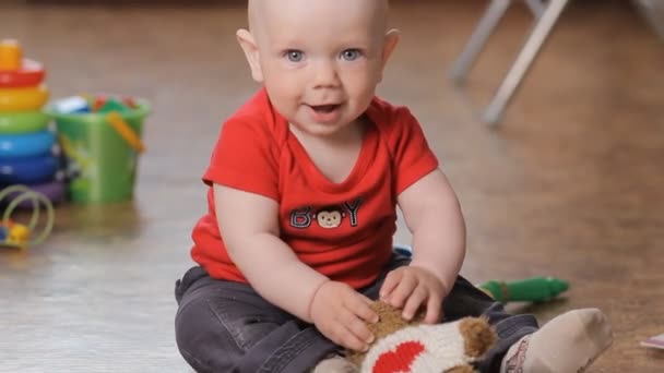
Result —
<instances>
[{"instance_id":1,"label":"baby's whole left-hand arm in the picture, from sleeve to fingertips","mask_svg":"<svg viewBox=\"0 0 664 373\"><path fill-rule=\"evenodd\" d=\"M332 341L366 350L374 339L363 321L376 322L369 299L303 263L280 238L275 201L214 185L220 230L228 255L265 300L312 323Z\"/></svg>"}]
</instances>

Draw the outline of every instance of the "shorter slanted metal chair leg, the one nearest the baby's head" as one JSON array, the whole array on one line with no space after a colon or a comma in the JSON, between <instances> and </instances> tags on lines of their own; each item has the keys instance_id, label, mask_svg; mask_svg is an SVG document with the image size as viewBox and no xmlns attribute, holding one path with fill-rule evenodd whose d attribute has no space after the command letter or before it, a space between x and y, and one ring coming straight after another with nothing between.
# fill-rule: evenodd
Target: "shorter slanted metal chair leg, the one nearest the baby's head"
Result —
<instances>
[{"instance_id":1,"label":"shorter slanted metal chair leg, the one nearest the baby's head","mask_svg":"<svg viewBox=\"0 0 664 373\"><path fill-rule=\"evenodd\" d=\"M477 56L486 45L489 36L505 15L512 0L491 0L471 39L450 69L450 77L458 85L463 84L469 71L477 60Z\"/></svg>"}]
</instances>

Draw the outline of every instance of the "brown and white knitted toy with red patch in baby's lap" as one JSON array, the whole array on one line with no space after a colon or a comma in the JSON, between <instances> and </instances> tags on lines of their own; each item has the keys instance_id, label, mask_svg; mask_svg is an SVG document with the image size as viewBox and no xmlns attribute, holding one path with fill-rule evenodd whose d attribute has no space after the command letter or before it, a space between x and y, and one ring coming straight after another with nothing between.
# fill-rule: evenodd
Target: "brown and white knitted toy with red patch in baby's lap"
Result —
<instances>
[{"instance_id":1,"label":"brown and white knitted toy with red patch in baby's lap","mask_svg":"<svg viewBox=\"0 0 664 373\"><path fill-rule=\"evenodd\" d=\"M347 351L347 359L361 373L471 373L471 363L496 341L496 334L483 317L464 317L437 325L412 322L383 302L371 308L380 316L369 329L376 341L369 351Z\"/></svg>"}]
</instances>

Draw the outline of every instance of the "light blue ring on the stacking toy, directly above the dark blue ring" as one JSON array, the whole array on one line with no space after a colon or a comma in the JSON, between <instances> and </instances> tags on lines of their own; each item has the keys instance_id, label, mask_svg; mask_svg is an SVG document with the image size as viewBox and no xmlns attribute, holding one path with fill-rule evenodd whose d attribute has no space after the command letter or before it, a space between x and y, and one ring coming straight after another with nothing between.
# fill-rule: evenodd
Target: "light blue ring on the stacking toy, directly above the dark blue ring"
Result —
<instances>
[{"instance_id":1,"label":"light blue ring on the stacking toy, directly above the dark blue ring","mask_svg":"<svg viewBox=\"0 0 664 373\"><path fill-rule=\"evenodd\" d=\"M49 130L0 135L0 159L34 157L50 153L56 136Z\"/></svg>"}]
</instances>

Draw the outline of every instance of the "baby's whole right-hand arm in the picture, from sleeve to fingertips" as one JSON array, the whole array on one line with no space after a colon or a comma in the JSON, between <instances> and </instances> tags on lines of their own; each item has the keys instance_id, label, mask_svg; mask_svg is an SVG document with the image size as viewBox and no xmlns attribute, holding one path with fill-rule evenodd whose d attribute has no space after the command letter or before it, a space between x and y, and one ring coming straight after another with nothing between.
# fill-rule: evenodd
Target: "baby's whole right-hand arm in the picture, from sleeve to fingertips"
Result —
<instances>
[{"instance_id":1,"label":"baby's whole right-hand arm in the picture, from sleeve to fingertips","mask_svg":"<svg viewBox=\"0 0 664 373\"><path fill-rule=\"evenodd\" d=\"M436 323L465 256L465 225L459 201L440 170L413 183L398 196L413 233L413 261L388 274L381 299L403 308L412 318L424 304L425 321Z\"/></svg>"}]
</instances>

